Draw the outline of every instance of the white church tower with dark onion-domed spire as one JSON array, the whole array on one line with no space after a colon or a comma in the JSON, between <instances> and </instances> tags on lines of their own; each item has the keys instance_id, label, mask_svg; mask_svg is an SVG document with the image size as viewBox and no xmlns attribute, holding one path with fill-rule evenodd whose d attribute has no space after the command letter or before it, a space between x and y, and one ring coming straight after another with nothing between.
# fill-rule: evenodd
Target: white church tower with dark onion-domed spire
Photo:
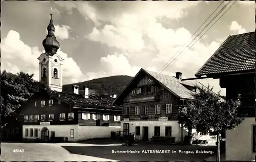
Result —
<instances>
[{"instance_id":1,"label":"white church tower with dark onion-domed spire","mask_svg":"<svg viewBox=\"0 0 256 162\"><path fill-rule=\"evenodd\" d=\"M65 60L57 54L59 42L54 35L52 13L50 15L51 19L47 27L48 34L42 41L45 53L37 58L39 60L39 80L47 84L51 90L62 91L62 65Z\"/></svg>"}]
</instances>

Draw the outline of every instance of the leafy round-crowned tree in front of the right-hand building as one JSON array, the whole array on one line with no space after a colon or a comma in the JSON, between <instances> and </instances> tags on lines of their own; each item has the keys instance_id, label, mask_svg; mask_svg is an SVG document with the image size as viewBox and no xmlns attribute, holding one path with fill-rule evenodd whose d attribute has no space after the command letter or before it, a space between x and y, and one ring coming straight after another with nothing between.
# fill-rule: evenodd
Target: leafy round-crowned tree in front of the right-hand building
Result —
<instances>
[{"instance_id":1,"label":"leafy round-crowned tree in front of the right-hand building","mask_svg":"<svg viewBox=\"0 0 256 162\"><path fill-rule=\"evenodd\" d=\"M236 100L225 101L220 92L215 94L208 85L197 87L199 93L194 95L195 100L187 102L187 108L179 109L179 123L187 128L194 127L198 132L219 134L240 125L246 114L238 112L241 105L240 95Z\"/></svg>"}]
</instances>

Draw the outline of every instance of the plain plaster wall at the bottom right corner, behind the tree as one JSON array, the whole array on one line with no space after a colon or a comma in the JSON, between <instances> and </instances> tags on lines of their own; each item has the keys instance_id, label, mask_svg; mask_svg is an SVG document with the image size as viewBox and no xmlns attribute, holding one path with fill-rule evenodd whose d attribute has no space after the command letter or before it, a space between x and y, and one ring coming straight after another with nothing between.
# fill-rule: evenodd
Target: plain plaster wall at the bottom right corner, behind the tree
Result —
<instances>
[{"instance_id":1,"label":"plain plaster wall at the bottom right corner, behind the tree","mask_svg":"<svg viewBox=\"0 0 256 162\"><path fill-rule=\"evenodd\" d=\"M254 118L246 118L235 129L226 131L226 160L253 160L252 125Z\"/></svg>"}]
</instances>

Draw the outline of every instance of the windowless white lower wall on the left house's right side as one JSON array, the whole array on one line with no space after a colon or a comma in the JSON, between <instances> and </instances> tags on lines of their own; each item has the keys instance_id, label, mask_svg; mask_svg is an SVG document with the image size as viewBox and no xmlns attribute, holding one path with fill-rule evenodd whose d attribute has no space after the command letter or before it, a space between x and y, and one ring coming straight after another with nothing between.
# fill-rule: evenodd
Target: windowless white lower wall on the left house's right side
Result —
<instances>
[{"instance_id":1,"label":"windowless white lower wall on the left house's right side","mask_svg":"<svg viewBox=\"0 0 256 162\"><path fill-rule=\"evenodd\" d=\"M90 138L110 138L111 131L116 132L120 127L101 127L101 126L78 126L78 140L88 140Z\"/></svg>"}]
</instances>

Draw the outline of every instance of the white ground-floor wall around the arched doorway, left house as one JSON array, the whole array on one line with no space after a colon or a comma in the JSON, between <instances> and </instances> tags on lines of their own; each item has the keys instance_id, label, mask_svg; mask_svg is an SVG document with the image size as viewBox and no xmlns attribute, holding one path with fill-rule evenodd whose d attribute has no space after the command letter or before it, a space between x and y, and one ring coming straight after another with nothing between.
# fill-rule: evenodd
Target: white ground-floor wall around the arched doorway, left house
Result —
<instances>
[{"instance_id":1,"label":"white ground-floor wall around the arched doorway, left house","mask_svg":"<svg viewBox=\"0 0 256 162\"><path fill-rule=\"evenodd\" d=\"M55 131L55 137L68 137L68 141L74 142L78 141L78 125L23 125L23 138L27 139L35 139L35 138L41 138L41 129L47 127L49 130L49 137L51 136L51 131ZM25 136L25 129L33 128L33 135L34 135L34 129L38 129L38 137L30 137ZM74 129L74 138L70 137L70 130ZM30 134L29 134L30 135Z\"/></svg>"}]
</instances>

